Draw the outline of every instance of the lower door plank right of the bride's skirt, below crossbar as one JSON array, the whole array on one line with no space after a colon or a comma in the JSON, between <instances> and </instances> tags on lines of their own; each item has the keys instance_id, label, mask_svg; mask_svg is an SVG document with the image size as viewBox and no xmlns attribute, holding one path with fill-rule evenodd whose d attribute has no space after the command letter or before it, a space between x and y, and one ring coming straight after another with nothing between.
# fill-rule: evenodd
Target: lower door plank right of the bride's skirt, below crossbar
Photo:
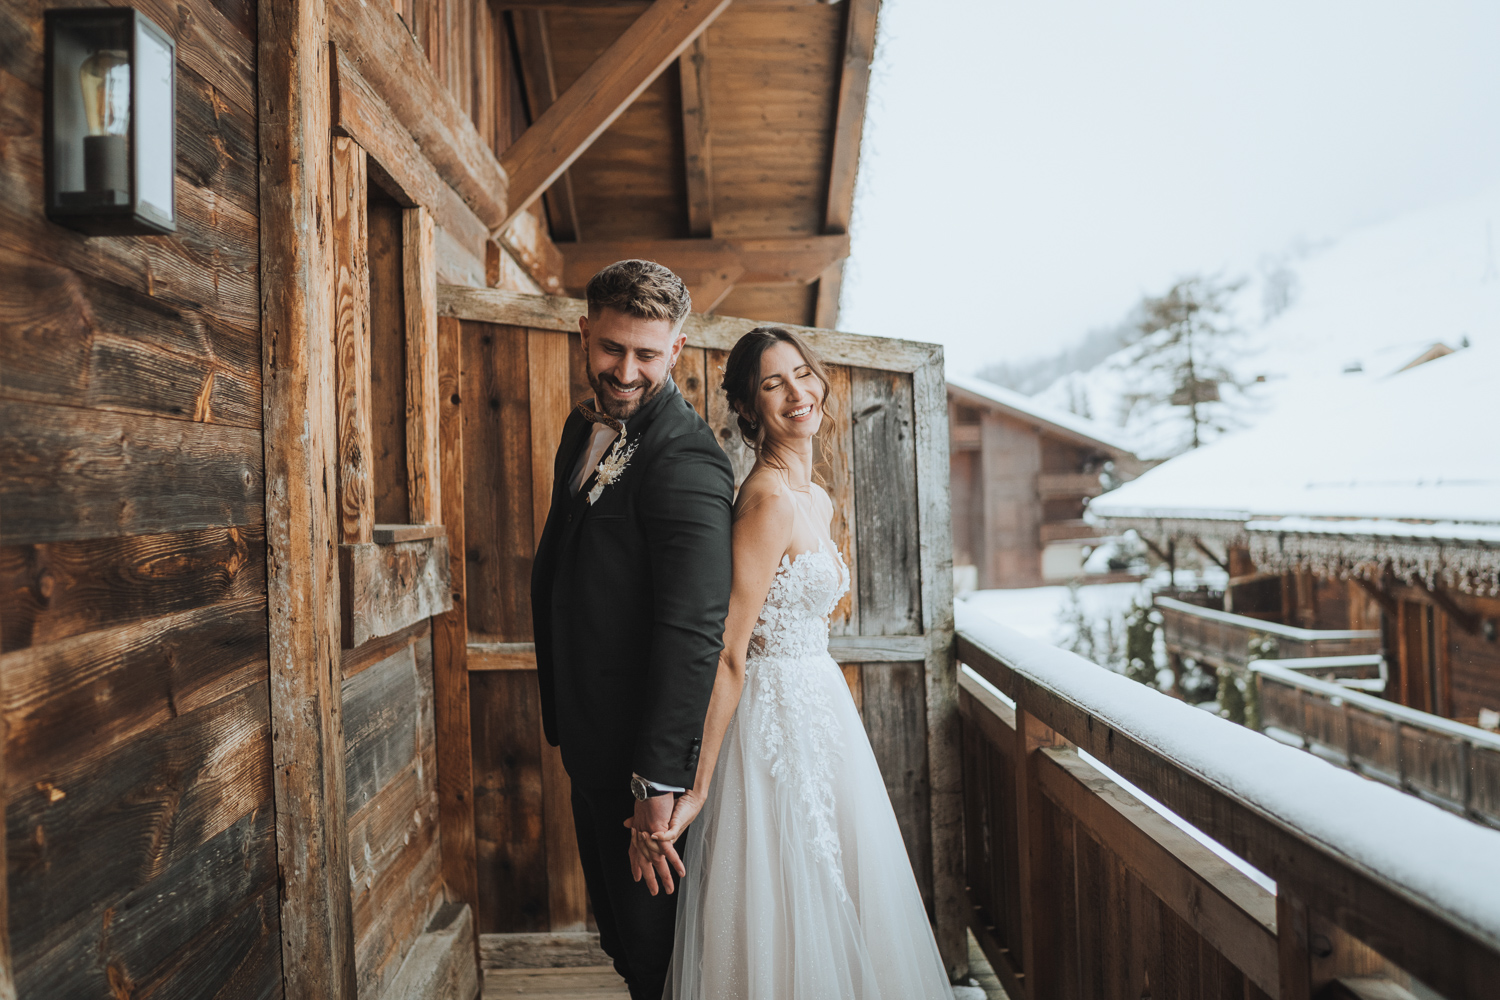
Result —
<instances>
[{"instance_id":1,"label":"lower door plank right of the bride's skirt, below crossbar","mask_svg":"<svg viewBox=\"0 0 1500 1000\"><path fill-rule=\"evenodd\" d=\"M861 691L870 748L880 765L922 903L932 910L932 805L922 664L866 664L861 669Z\"/></svg>"}]
</instances>

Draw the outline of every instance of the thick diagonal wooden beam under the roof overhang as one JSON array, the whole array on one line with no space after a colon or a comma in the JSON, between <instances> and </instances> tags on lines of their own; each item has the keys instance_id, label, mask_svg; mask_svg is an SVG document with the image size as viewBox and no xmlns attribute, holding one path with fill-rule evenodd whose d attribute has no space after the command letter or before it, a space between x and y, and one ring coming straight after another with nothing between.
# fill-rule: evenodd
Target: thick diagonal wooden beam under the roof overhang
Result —
<instances>
[{"instance_id":1,"label":"thick diagonal wooden beam under the roof overhang","mask_svg":"<svg viewBox=\"0 0 1500 1000\"><path fill-rule=\"evenodd\" d=\"M656 0L584 75L507 148L504 229L592 145L729 0Z\"/></svg>"}]
</instances>

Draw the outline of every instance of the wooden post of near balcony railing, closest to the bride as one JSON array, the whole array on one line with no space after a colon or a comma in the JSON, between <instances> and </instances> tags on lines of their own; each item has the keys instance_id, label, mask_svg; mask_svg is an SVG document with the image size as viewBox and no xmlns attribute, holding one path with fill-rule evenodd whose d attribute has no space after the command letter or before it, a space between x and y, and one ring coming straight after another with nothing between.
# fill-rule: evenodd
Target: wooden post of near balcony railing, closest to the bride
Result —
<instances>
[{"instance_id":1,"label":"wooden post of near balcony railing, closest to the bride","mask_svg":"<svg viewBox=\"0 0 1500 1000\"><path fill-rule=\"evenodd\" d=\"M1036 774L1038 751L1066 747L1068 741L1035 715L1016 706L1016 847L1020 855L1020 933L1022 976L1029 1000L1052 1000L1058 993L1060 943L1054 924L1059 894L1071 886L1056 885L1052 837L1046 825L1041 780Z\"/></svg>"}]
</instances>

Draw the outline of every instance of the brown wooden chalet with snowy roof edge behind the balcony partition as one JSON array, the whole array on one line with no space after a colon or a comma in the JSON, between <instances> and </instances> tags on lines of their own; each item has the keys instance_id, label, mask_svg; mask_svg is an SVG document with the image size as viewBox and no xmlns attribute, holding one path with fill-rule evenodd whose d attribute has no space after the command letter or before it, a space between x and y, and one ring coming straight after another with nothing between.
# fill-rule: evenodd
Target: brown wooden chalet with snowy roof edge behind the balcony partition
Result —
<instances>
[{"instance_id":1,"label":"brown wooden chalet with snowy roof edge behind the balcony partition","mask_svg":"<svg viewBox=\"0 0 1500 1000\"><path fill-rule=\"evenodd\" d=\"M969 588L1077 579L1106 480L1140 460L1107 427L978 378L948 376L952 564Z\"/></svg>"}]
</instances>

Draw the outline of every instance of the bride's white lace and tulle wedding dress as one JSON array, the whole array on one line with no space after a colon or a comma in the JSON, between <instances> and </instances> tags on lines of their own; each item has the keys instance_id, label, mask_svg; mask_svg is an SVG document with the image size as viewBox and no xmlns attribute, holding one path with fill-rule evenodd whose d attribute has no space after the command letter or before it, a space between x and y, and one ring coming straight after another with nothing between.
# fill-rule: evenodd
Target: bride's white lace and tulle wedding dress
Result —
<instances>
[{"instance_id":1,"label":"bride's white lace and tulle wedding dress","mask_svg":"<svg viewBox=\"0 0 1500 1000\"><path fill-rule=\"evenodd\" d=\"M828 615L848 589L828 540L777 568L708 801L684 838L668 1000L952 997L828 655Z\"/></svg>"}]
</instances>

